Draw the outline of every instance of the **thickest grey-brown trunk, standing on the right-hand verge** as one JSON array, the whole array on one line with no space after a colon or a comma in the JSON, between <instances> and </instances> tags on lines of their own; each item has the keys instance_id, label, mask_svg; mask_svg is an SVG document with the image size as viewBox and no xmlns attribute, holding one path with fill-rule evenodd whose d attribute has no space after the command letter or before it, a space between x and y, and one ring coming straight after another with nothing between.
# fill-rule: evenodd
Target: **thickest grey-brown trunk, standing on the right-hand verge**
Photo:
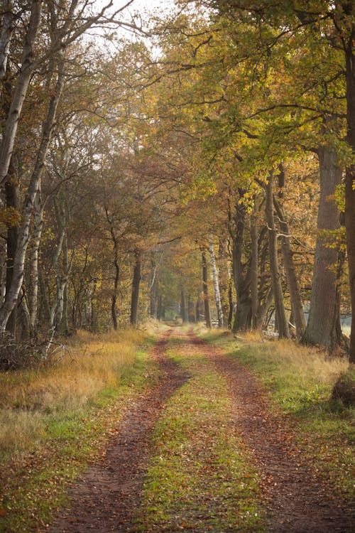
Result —
<instances>
[{"instance_id":1,"label":"thickest grey-brown trunk, standing on the right-hand verge","mask_svg":"<svg viewBox=\"0 0 355 533\"><path fill-rule=\"evenodd\" d=\"M342 168L338 166L334 149L321 146L320 158L320 205L318 208L317 243L315 248L315 266L313 269L310 315L303 342L320 344L328 349L334 344L334 311L337 306L337 263L339 251L327 246L324 230L337 230L340 227L339 210L334 200L335 188L342 181ZM340 343L339 339L339 343Z\"/></svg>"}]
</instances>

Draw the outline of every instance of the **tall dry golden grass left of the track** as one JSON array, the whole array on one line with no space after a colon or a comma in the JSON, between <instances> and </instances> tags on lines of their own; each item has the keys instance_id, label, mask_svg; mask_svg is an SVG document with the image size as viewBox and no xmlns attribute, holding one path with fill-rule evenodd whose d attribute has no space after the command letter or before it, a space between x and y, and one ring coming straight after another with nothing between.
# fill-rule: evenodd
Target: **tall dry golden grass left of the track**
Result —
<instances>
[{"instance_id":1,"label":"tall dry golden grass left of the track","mask_svg":"<svg viewBox=\"0 0 355 533\"><path fill-rule=\"evenodd\" d=\"M77 411L107 387L117 387L146 334L79 331L55 365L0 374L0 453L31 450L50 416Z\"/></svg>"}]
</instances>

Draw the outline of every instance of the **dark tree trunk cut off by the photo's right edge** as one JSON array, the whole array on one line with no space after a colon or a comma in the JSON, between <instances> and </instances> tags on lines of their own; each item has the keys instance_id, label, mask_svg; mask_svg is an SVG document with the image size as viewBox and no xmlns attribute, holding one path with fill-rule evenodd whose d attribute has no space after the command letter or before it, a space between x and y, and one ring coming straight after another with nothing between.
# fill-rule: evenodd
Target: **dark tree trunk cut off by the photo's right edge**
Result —
<instances>
[{"instance_id":1,"label":"dark tree trunk cut off by the photo's right edge","mask_svg":"<svg viewBox=\"0 0 355 533\"><path fill-rule=\"evenodd\" d=\"M354 8L353 8L354 11ZM354 21L354 18L353 18ZM346 48L346 139L355 154L355 53L354 22ZM351 296L350 362L355 363L355 164L346 168L345 178L345 227L346 249L349 263L349 284Z\"/></svg>"}]
</instances>

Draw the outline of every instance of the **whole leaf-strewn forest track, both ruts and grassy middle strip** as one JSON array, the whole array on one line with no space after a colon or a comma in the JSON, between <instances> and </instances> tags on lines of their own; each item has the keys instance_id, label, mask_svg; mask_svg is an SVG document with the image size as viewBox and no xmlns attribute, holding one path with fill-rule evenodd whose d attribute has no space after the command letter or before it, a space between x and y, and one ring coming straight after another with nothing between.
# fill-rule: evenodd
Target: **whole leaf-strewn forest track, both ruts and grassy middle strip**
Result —
<instances>
[{"instance_id":1,"label":"whole leaf-strewn forest track, both ruts and grassy middle strip","mask_svg":"<svg viewBox=\"0 0 355 533\"><path fill-rule=\"evenodd\" d=\"M158 383L126 410L51 533L355 530L349 500L224 352L192 330L163 333Z\"/></svg>"}]
</instances>

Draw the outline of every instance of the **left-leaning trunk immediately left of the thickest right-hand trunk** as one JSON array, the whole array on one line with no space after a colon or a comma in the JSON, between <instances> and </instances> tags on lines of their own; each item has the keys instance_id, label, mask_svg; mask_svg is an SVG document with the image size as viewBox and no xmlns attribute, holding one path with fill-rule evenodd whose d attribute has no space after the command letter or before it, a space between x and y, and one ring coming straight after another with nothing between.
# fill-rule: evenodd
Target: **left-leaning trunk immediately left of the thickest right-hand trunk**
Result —
<instances>
[{"instance_id":1,"label":"left-leaning trunk immediately left of the thickest right-hand trunk","mask_svg":"<svg viewBox=\"0 0 355 533\"><path fill-rule=\"evenodd\" d=\"M278 184L282 191L285 186L285 172L280 167L280 174L278 178ZM281 192L280 198L283 198ZM285 266L286 279L288 280L288 290L290 291L291 307L293 313L293 319L296 326L296 336L298 339L302 338L306 328L305 311L303 309L302 297L300 294L300 287L298 284L295 265L293 264L293 252L290 246L290 230L288 222L285 220L283 210L278 200L273 197L273 204L278 215L280 231L283 234L281 236L281 250L283 252L283 266Z\"/></svg>"}]
</instances>

